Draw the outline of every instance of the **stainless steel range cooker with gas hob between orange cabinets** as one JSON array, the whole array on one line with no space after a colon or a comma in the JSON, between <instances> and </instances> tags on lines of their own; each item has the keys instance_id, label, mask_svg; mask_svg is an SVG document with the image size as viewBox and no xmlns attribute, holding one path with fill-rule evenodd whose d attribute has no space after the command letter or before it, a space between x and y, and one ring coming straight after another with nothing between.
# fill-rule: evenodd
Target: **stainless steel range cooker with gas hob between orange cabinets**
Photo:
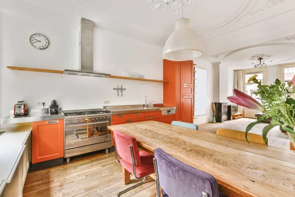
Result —
<instances>
[{"instance_id":1,"label":"stainless steel range cooker with gas hob between orange cabinets","mask_svg":"<svg viewBox=\"0 0 295 197\"><path fill-rule=\"evenodd\" d=\"M70 157L106 149L112 146L112 112L104 109L65 110L65 152L67 163Z\"/></svg>"}]
</instances>

